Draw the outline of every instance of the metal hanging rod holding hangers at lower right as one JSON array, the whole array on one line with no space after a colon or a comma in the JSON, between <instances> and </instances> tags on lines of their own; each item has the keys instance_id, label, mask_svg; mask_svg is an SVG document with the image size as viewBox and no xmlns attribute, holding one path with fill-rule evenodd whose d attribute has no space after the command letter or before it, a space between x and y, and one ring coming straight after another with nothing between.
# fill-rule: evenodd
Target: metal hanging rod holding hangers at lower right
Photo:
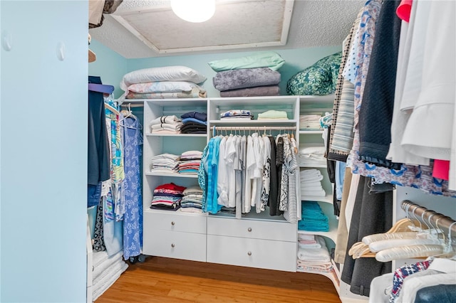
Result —
<instances>
[{"instance_id":1,"label":"metal hanging rod holding hangers at lower right","mask_svg":"<svg viewBox=\"0 0 456 303\"><path fill-rule=\"evenodd\" d=\"M448 234L448 230L451 226L451 238L456 238L456 221L450 217L442 215L442 213L436 213L430 209L425 208L424 206L419 206L418 204L413 203L412 201L404 200L402 201L401 208L403 211L409 214L408 218L419 220L426 225L432 225L435 228L440 228L445 236Z\"/></svg>"}]
</instances>

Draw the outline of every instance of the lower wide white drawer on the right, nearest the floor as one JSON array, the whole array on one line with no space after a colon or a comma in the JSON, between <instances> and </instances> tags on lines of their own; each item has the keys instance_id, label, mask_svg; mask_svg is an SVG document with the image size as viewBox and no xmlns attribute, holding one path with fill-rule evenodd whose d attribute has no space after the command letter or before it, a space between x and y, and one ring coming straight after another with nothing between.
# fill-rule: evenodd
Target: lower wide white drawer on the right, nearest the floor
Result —
<instances>
[{"instance_id":1,"label":"lower wide white drawer on the right, nearest the floor","mask_svg":"<svg viewBox=\"0 0 456 303\"><path fill-rule=\"evenodd\" d=\"M207 235L207 262L296 272L296 243Z\"/></svg>"}]
</instances>

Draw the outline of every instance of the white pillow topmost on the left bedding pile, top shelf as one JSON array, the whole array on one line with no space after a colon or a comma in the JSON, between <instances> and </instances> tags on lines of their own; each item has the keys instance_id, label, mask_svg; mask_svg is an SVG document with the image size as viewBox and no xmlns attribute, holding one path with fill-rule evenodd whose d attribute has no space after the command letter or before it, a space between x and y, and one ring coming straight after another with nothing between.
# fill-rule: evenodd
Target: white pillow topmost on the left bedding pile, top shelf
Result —
<instances>
[{"instance_id":1,"label":"white pillow topmost on the left bedding pile, top shelf","mask_svg":"<svg viewBox=\"0 0 456 303\"><path fill-rule=\"evenodd\" d=\"M192 83L202 83L206 77L192 68L186 66L164 66L162 68L145 68L134 70L123 76L120 88L125 92L128 87L136 83L148 83L157 81L190 81Z\"/></svg>"}]
</instances>

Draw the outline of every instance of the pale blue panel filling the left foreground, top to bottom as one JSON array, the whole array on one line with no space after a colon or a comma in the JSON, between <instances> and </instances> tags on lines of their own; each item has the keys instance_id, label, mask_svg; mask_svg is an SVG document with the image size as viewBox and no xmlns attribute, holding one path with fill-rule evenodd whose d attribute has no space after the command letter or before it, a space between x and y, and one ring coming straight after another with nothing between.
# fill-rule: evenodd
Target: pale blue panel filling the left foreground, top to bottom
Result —
<instances>
[{"instance_id":1,"label":"pale blue panel filling the left foreground, top to bottom","mask_svg":"<svg viewBox=\"0 0 456 303\"><path fill-rule=\"evenodd\" d=\"M0 301L85 302L88 1L0 7Z\"/></svg>"}]
</instances>

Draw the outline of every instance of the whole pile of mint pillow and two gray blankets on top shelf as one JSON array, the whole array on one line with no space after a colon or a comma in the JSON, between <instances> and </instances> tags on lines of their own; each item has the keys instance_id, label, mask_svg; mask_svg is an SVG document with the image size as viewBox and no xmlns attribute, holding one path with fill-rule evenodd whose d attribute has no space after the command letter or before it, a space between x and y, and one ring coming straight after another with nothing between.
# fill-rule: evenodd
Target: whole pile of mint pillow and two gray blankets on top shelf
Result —
<instances>
[{"instance_id":1,"label":"whole pile of mint pillow and two gray blankets on top shelf","mask_svg":"<svg viewBox=\"0 0 456 303\"><path fill-rule=\"evenodd\" d=\"M209 66L217 72L212 79L220 97L279 95L281 75L277 71L285 60L267 51L242 58L214 60Z\"/></svg>"}]
</instances>

